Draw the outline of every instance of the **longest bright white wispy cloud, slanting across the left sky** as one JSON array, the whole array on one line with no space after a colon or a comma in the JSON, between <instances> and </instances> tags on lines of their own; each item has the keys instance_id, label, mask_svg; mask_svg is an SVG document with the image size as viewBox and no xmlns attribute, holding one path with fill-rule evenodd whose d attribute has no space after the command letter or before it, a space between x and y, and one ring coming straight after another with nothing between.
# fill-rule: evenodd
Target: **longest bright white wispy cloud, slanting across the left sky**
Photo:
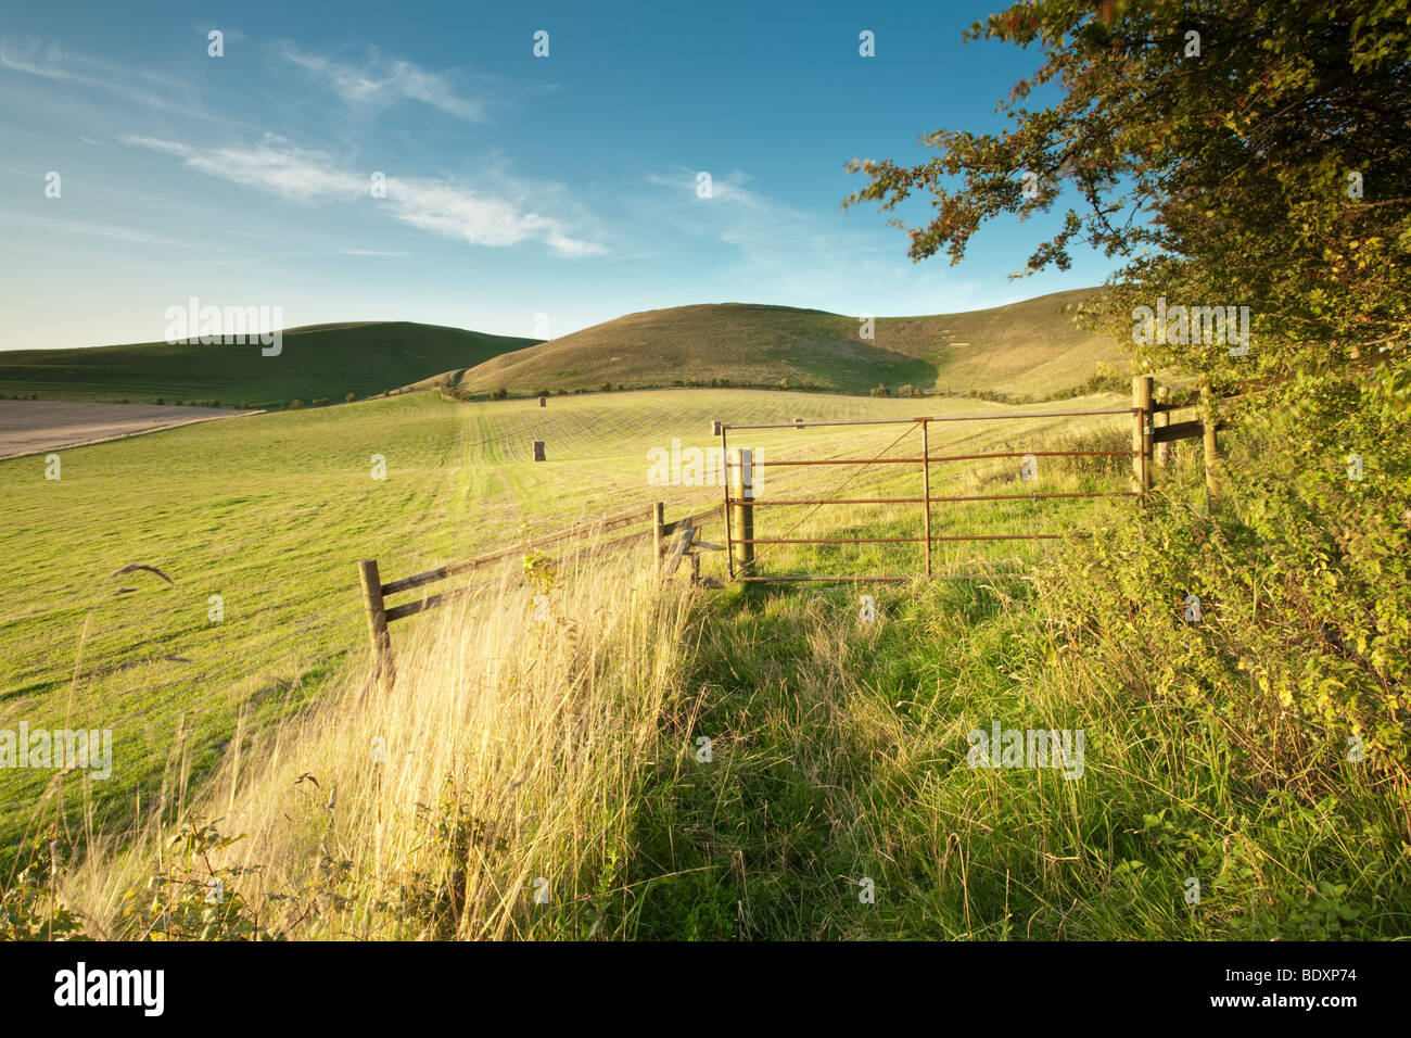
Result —
<instances>
[{"instance_id":1,"label":"longest bright white wispy cloud, slanting across the left sky","mask_svg":"<svg viewBox=\"0 0 1411 1038\"><path fill-rule=\"evenodd\" d=\"M339 168L320 151L267 136L246 147L193 148L178 141L151 137L126 137L135 144L175 155L192 169L267 191L279 198L306 203L356 202L371 198L371 175ZM504 178L501 178L504 181ZM388 177L385 203L392 216L420 230L468 244L505 247L523 241L543 241L559 256L595 256L605 249L574 233L560 217L536 210L525 185L505 185L509 191L491 193L453 181L412 177ZM557 193L556 185L546 191Z\"/></svg>"}]
</instances>

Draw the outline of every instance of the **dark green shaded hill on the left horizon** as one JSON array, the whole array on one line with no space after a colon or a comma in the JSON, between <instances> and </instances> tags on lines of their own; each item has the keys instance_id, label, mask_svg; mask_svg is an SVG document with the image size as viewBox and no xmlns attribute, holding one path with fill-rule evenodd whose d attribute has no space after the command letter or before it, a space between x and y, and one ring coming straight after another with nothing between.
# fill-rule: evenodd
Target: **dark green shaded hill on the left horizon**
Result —
<instances>
[{"instance_id":1,"label":"dark green shaded hill on the left horizon","mask_svg":"<svg viewBox=\"0 0 1411 1038\"><path fill-rule=\"evenodd\" d=\"M533 343L459 328L377 321L306 325L284 332L284 349L265 357L260 346L135 343L0 353L0 395L40 400L131 400L161 397L223 405L270 407L289 400L343 400L405 386L442 371L480 364Z\"/></svg>"}]
</instances>

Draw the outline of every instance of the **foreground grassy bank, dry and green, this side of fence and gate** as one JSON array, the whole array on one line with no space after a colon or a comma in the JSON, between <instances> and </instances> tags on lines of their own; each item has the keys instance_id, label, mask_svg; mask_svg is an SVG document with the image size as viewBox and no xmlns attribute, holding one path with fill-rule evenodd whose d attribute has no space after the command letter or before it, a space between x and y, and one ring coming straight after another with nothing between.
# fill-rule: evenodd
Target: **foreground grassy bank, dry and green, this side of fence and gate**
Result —
<instances>
[{"instance_id":1,"label":"foreground grassy bank, dry and green, this side of fence and gate","mask_svg":"<svg viewBox=\"0 0 1411 1038\"><path fill-rule=\"evenodd\" d=\"M350 674L135 840L75 846L65 904L109 936L1407 932L1404 780L1295 724L1261 758L1267 705L1171 688L1061 580L893 586L872 621L854 589L595 568L536 620L540 586L423 628L387 695ZM1081 770L971 767L995 722L1081 730ZM248 839L207 861L217 816Z\"/></svg>"}]
</instances>

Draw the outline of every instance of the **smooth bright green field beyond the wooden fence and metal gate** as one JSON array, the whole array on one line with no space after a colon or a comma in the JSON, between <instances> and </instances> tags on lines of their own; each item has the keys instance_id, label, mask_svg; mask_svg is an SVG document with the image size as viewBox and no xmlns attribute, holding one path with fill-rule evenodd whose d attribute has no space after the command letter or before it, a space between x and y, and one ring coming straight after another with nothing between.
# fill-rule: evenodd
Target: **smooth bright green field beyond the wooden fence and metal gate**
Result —
<instances>
[{"instance_id":1,"label":"smooth bright green field beyond the wooden fence and metal gate","mask_svg":"<svg viewBox=\"0 0 1411 1038\"><path fill-rule=\"evenodd\" d=\"M981 401L926 404L950 414L1010 412ZM392 579L586 517L634 507L646 515L653 500L666 501L669 515L707 510L721 489L648 484L648 451L669 449L673 438L687 449L711 446L711 418L916 411L917 401L752 390L595 394L556 398L547 408L533 401L452 402L423 393L63 451L56 482L44 479L42 458L0 463L11 515L0 532L0 583L14 589L0 636L0 720L113 727L126 764L95 792L121 819L138 795L161 795L171 753L193 774L209 770L237 724L261 724L306 702L349 651L361 661L357 559L377 558L384 579ZM1012 442L1016 425L1029 435L1051 434L1064 421L937 428L958 448L1003 448L1019 445ZM755 446L768 460L800 451L873 456L896 436L897 426L883 425L768 431L734 442ZM532 462L533 439L546 441L546 463ZM914 455L914 439L896 443L892 456L904 449ZM933 439L933 453L938 446ZM387 459L384 480L373 479L374 455ZM1017 486L1016 466L1006 473L968 469L957 486L969 491L999 479ZM914 494L919 477L904 467L909 475L854 476L848 494ZM937 487L943 469L935 466ZM759 493L813 491L825 486L818 472L761 469ZM851 469L828 472L837 482ZM937 506L934 532L989 528L999 520L1023 528L1023 507L976 520L959 506L950 514ZM799 535L875 523L880 511L814 514ZM919 510L912 511L895 520L900 535L917 532ZM773 535L786 532L762 518L758 535L768 535L766 527ZM722 539L722 530L710 532ZM917 566L916 545L869 547L841 561L838 549L820 551L821 558L809 548L762 549L761 561L804 571L841 563L851 572L880 566L910 573ZM957 552L940 549L937 563L947 565L948 556L964 565ZM152 565L172 583L145 572L110 578L128 563ZM707 572L718 569L722 559L710 556ZM114 593L123 587L131 592ZM220 620L210 619L212 596L220 599ZM416 623L401 624L398 636ZM3 832L16 832L45 780L42 772L13 782L7 775Z\"/></svg>"}]
</instances>

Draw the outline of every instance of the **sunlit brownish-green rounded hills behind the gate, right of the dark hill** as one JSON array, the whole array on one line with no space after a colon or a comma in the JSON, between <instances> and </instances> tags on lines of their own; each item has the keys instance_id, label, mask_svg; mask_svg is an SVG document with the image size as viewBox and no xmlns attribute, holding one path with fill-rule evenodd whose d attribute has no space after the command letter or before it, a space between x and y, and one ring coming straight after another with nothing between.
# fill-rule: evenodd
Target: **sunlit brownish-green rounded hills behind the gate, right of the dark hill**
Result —
<instances>
[{"instance_id":1,"label":"sunlit brownish-green rounded hills behind the gate, right of the dark hill","mask_svg":"<svg viewBox=\"0 0 1411 1038\"><path fill-rule=\"evenodd\" d=\"M1072 323L1096 290L1055 292L992 309L878 318L859 338L854 316L792 306L717 304L629 314L562 339L504 353L423 384L470 394L701 384L866 393L924 390L1048 397L1081 386L1099 363L1127 370L1110 339Z\"/></svg>"}]
</instances>

